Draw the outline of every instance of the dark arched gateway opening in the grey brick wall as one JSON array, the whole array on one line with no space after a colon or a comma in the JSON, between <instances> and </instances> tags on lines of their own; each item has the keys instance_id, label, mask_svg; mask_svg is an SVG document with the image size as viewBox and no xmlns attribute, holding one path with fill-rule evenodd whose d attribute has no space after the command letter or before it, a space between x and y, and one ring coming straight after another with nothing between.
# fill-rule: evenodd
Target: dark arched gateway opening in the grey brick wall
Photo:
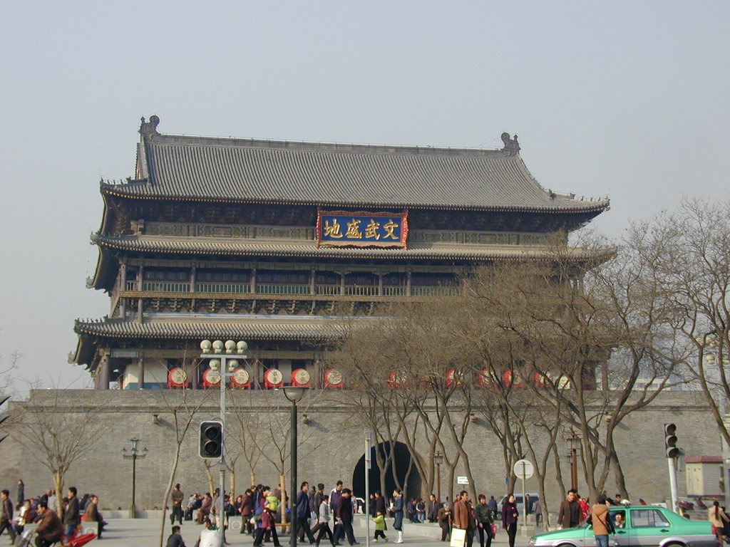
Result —
<instances>
[{"instance_id":1,"label":"dark arched gateway opening in the grey brick wall","mask_svg":"<svg viewBox=\"0 0 730 547\"><path fill-rule=\"evenodd\" d=\"M372 460L372 469L369 471L370 477L370 493L372 494L376 490L380 490L380 468L377 467L375 460L375 450L380 450L380 454L385 459L385 454L390 449L391 443L385 442L374 446L370 451L370 457ZM404 443L396 442L393 445L395 447L395 476L393 476L393 466L389 466L385 471L385 492L381 492L383 497L387 500L393 495L393 490L398 488L399 485L402 488L407 485L406 492L404 492L407 498L420 497L421 489L421 478L418 473L418 468L415 465L411 465L410 473L408 467L411 462L410 452ZM396 482L396 477L398 481ZM355 470L353 471L353 492L357 497L365 497L365 456L361 456L358 460Z\"/></svg>"}]
</instances>

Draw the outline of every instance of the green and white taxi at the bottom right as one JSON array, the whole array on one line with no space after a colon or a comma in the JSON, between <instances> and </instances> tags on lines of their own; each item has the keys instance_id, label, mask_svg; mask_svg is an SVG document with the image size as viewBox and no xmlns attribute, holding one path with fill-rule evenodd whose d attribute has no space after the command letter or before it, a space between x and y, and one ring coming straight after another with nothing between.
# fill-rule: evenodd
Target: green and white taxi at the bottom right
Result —
<instances>
[{"instance_id":1,"label":"green and white taxi at the bottom right","mask_svg":"<svg viewBox=\"0 0 730 547\"><path fill-rule=\"evenodd\" d=\"M617 519L618 516L618 519ZM689 521L669 509L654 505L610 508L615 535L609 543L616 547L718 547L707 521ZM618 523L618 524L617 524ZM591 524L534 535L531 547L595 547Z\"/></svg>"}]
</instances>

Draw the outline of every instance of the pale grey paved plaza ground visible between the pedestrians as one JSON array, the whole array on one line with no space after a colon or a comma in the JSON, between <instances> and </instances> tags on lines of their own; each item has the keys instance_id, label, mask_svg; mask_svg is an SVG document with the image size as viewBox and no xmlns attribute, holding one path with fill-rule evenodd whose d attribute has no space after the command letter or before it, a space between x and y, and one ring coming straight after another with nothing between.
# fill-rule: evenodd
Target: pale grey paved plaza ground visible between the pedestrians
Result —
<instances>
[{"instance_id":1,"label":"pale grey paved plaza ground visible between the pedestrians","mask_svg":"<svg viewBox=\"0 0 730 547\"><path fill-rule=\"evenodd\" d=\"M362 517L361 517L362 518ZM239 523L240 520L233 524ZM388 544L393 543L397 535L392 529L392 520L388 521ZM93 540L87 545L99 545L104 547L153 547L158 546L159 540L159 528L160 521L158 519L109 519L109 526L104 530L104 537L101 540ZM234 526L235 527L235 526ZM201 526L194 524L190 521L185 521L182 526L182 535L185 540L185 544L188 547L193 547L198 535L201 530ZM166 521L165 526L165 540L170 534L171 526L169 520ZM435 524L406 524L404 526L404 546L409 545L411 547L446 547L448 543L442 543L437 538L434 538L436 532L438 532ZM420 532L420 533L419 533ZM365 547L365 527L356 526L355 536L360 545L358 547ZM253 539L249 535L240 534L239 529L234 529L226 533L226 539L231 546L239 547L251 547L253 546ZM529 536L522 536L518 533L516 547L525 547L528 543ZM280 542L283 547L288 546L289 536L281 536ZM507 546L507 534L504 530L500 530L497 534L496 540L492 542L493 546L505 547ZM9 545L9 536L3 535L0 538L0 547ZM300 545L309 546L309 543L303 543ZM327 543L322 543L322 547L326 547ZM347 547L347 543L343 543ZM376 545L370 543L371 546ZM377 543L382 546L383 542ZM266 547L272 547L273 543L266 543ZM163 543L164 547L164 543ZM479 547L479 538L475 538L475 547Z\"/></svg>"}]
</instances>

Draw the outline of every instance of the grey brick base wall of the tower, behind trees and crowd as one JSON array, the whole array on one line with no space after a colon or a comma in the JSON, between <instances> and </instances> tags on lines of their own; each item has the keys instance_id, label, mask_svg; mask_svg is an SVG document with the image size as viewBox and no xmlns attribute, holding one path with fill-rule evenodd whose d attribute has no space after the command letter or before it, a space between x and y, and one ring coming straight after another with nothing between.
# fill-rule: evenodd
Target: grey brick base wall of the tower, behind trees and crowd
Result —
<instances>
[{"instance_id":1,"label":"grey brick base wall of the tower, behind trees and crowd","mask_svg":"<svg viewBox=\"0 0 730 547\"><path fill-rule=\"evenodd\" d=\"M60 395L60 397L58 396ZM191 492L207 492L209 489L203 460L198 457L198 426L204 419L217 419L220 414L219 392L188 391L185 396L188 408L200 407L192 420L191 428L183 443L180 464L175 482L180 482L185 496ZM299 481L323 482L327 489L341 479L352 486L353 473L363 456L366 424L357 409L343 401L350 400L345 392L312 392L299 403L300 418L307 414L307 424L299 422ZM132 462L124 459L123 447L129 449L129 438L141 439L140 448L147 448L144 459L137 460L137 508L153 509L162 505L161 498L169 481L175 442L175 416L173 408L180 406L183 392L179 391L94 391L94 390L41 390L32 392L32 405L45 408L46 412L66 413L74 419L91 420L101 425L93 450L75 462L66 475L66 486L76 486L79 493L93 492L99 495L101 507L128 509L131 505ZM229 430L242 430L240 420L245 420L248 435L247 446L264 443L271 439L271 428L278 430L276 437L283 454L288 455L288 432L291 403L275 392L234 392L227 397ZM17 412L18 405L15 405ZM185 419L181 407L178 422ZM469 424L469 434L464 448L469 454L477 492L499 496L504 494L504 463L502 446L485 422L478 418ZM157 416L155 419L154 416ZM271 420L269 420L271 417ZM669 497L669 478L664 458L665 422L677 424L679 445L687 456L719 455L720 437L716 432L709 411L702 399L692 392L666 392L649 408L630 414L617 428L616 442L626 486L632 498L644 498L648 502L661 502ZM9 431L11 432L11 431ZM234 456L237 473L237 492L249 486L250 465L237 448L236 439L241 435L228 433L226 446ZM570 481L568 447L561 435L561 469L566 484ZM418 449L423 457L428 446L422 441ZM280 449L269 443L266 455L277 462ZM253 450L255 452L255 450ZM40 457L40 454L38 454ZM681 470L677 476L680 496L685 494L685 476ZM285 463L288 471L288 460ZM18 478L26 483L26 495L35 495L53 485L50 471L33 457L29 449L11 437L0 443L0 470L3 484L15 497ZM212 466L213 482L218 484L218 465ZM583 466L579 457L579 490L586 492L582 478ZM465 475L464 468L457 466L454 476ZM563 493L558 491L555 465L548 463L548 503L556 511ZM442 466L442 496L448 494L450 473ZM287 486L289 479L287 478ZM277 466L266 457L258 456L255 463L255 481L275 486L279 482ZM456 482L456 478L454 478ZM226 478L226 489L228 489ZM376 489L377 486L371 486ZM454 486L460 490L461 486ZM518 482L516 489L520 490ZM435 488L434 488L435 490ZM538 492L537 481L526 481L528 492ZM607 482L607 490L615 493L613 477ZM427 494L427 492L423 492ZM13 499L13 501L15 501Z\"/></svg>"}]
</instances>

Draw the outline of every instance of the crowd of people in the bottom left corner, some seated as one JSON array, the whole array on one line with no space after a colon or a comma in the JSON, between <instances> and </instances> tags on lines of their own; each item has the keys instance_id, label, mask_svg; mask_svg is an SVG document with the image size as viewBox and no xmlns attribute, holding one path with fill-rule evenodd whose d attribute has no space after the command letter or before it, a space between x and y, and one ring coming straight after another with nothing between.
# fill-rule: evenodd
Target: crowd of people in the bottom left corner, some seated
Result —
<instances>
[{"instance_id":1,"label":"crowd of people in the bottom left corner, some seated","mask_svg":"<svg viewBox=\"0 0 730 547\"><path fill-rule=\"evenodd\" d=\"M70 486L61 500L63 511L58 516L58 499L53 489L47 489L36 497L26 497L26 486L18 480L17 504L13 504L9 490L0 492L0 535L7 531L11 543L23 534L27 524L36 523L36 547L48 547L62 537L73 538L81 531L81 523L93 526L97 538L107 522L99 512L99 497L84 494L78 497L75 486Z\"/></svg>"}]
</instances>

